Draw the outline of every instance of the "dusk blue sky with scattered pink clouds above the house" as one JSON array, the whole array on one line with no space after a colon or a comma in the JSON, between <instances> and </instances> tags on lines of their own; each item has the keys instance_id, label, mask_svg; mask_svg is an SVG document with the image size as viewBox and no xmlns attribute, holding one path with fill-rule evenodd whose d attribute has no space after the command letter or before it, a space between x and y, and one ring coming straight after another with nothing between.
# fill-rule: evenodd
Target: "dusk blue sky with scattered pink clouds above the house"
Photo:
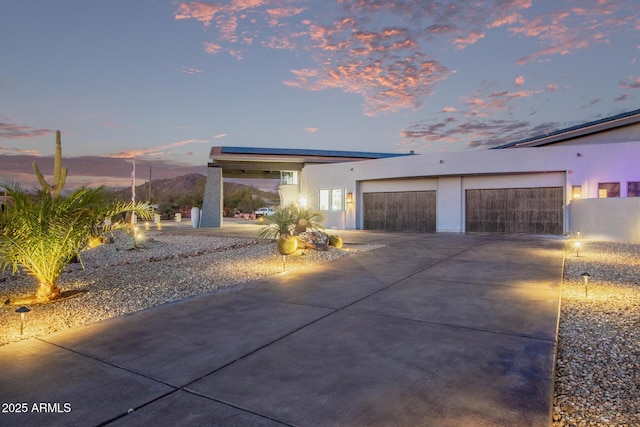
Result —
<instances>
[{"instance_id":1,"label":"dusk blue sky with scattered pink clouds above the house","mask_svg":"<svg viewBox=\"0 0 640 427\"><path fill-rule=\"evenodd\" d=\"M206 174L213 146L482 150L640 108L640 2L21 0L0 180ZM142 183L142 182L140 182Z\"/></svg>"}]
</instances>

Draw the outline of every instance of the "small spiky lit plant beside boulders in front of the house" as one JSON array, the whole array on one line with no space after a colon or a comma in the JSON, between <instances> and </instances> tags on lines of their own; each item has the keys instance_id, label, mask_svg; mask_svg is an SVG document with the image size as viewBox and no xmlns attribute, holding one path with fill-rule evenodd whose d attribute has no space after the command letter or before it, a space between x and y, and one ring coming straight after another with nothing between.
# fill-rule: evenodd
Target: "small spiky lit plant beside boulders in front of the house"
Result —
<instances>
[{"instance_id":1,"label":"small spiky lit plant beside boulders in front of the house","mask_svg":"<svg viewBox=\"0 0 640 427\"><path fill-rule=\"evenodd\" d=\"M322 229L324 216L319 211L290 203L277 209L273 215L264 217L264 221L265 225L258 231L258 236L262 239L277 239L285 234L297 236L307 229Z\"/></svg>"}]
</instances>

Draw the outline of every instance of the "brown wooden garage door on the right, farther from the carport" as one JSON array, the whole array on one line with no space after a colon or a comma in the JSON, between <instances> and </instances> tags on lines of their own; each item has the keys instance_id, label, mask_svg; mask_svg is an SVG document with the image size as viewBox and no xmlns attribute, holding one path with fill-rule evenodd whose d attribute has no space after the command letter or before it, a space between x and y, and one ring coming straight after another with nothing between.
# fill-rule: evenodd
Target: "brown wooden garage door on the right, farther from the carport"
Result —
<instances>
[{"instance_id":1,"label":"brown wooden garage door on the right, farther from the carport","mask_svg":"<svg viewBox=\"0 0 640 427\"><path fill-rule=\"evenodd\" d=\"M466 191L466 231L562 234L562 187Z\"/></svg>"}]
</instances>

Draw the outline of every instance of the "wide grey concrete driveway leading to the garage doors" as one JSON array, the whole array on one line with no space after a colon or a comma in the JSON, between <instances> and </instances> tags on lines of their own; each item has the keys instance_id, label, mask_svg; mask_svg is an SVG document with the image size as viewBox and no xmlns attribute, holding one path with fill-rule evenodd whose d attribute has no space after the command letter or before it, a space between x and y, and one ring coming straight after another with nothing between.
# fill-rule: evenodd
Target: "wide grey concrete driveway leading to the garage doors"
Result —
<instances>
[{"instance_id":1,"label":"wide grey concrete driveway leading to the garage doors","mask_svg":"<svg viewBox=\"0 0 640 427\"><path fill-rule=\"evenodd\" d=\"M550 424L562 238L341 234L386 246L0 347L0 425Z\"/></svg>"}]
</instances>

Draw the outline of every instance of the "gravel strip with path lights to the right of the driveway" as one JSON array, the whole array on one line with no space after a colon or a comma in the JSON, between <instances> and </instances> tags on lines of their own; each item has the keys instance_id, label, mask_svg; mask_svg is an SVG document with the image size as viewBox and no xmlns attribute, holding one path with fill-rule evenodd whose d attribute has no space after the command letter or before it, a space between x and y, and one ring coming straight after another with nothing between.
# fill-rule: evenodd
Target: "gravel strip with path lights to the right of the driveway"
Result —
<instances>
[{"instance_id":1,"label":"gravel strip with path lights to the right of the driveway","mask_svg":"<svg viewBox=\"0 0 640 427\"><path fill-rule=\"evenodd\" d=\"M553 427L640 425L640 245L567 242ZM591 274L585 291L582 273ZM588 296L587 296L588 295Z\"/></svg>"}]
</instances>

